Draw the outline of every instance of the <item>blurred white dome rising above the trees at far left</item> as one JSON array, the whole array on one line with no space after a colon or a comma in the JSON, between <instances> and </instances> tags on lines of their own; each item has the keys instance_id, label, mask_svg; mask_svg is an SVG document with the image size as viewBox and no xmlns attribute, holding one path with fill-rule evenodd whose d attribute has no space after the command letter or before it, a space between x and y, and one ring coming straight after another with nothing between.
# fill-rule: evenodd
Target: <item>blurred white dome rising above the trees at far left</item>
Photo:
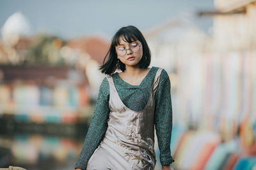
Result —
<instances>
[{"instance_id":1,"label":"blurred white dome rising above the trees at far left","mask_svg":"<svg viewBox=\"0 0 256 170\"><path fill-rule=\"evenodd\" d=\"M29 21L21 12L13 13L1 29L4 43L10 45L15 45L20 36L26 36L29 32L31 32Z\"/></svg>"}]
</instances>

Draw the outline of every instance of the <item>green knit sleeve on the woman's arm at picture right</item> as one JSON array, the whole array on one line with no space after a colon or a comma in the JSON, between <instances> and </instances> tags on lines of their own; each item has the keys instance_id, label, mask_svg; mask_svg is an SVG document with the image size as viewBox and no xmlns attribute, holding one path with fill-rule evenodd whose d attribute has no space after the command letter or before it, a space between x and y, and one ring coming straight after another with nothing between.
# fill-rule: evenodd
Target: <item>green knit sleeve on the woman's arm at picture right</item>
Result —
<instances>
[{"instance_id":1,"label":"green knit sleeve on the woman's arm at picture right","mask_svg":"<svg viewBox=\"0 0 256 170\"><path fill-rule=\"evenodd\" d=\"M170 150L170 141L172 137L172 99L170 88L169 76L163 69L156 92L156 108L154 116L154 124L160 150L160 162L162 166L168 166L174 162Z\"/></svg>"}]
</instances>

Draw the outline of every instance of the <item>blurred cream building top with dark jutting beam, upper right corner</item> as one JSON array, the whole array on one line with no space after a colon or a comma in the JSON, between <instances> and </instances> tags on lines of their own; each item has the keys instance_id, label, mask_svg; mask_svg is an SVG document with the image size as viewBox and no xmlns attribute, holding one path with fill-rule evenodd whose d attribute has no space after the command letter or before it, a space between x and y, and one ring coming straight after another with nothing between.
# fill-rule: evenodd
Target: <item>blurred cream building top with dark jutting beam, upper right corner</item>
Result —
<instances>
[{"instance_id":1,"label":"blurred cream building top with dark jutting beam, upper right corner","mask_svg":"<svg viewBox=\"0 0 256 170\"><path fill-rule=\"evenodd\" d=\"M248 51L256 47L256 3L216 0L214 45L218 50Z\"/></svg>"}]
</instances>

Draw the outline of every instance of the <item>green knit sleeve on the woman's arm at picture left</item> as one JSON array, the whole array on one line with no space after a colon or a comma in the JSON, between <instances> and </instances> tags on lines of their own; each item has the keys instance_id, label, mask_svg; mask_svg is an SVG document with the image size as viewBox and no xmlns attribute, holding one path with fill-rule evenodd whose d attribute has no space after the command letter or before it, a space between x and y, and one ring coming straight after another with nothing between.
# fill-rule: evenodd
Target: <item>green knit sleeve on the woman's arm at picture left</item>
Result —
<instances>
[{"instance_id":1,"label":"green knit sleeve on the woman's arm at picture left","mask_svg":"<svg viewBox=\"0 0 256 170\"><path fill-rule=\"evenodd\" d=\"M95 105L92 120L84 139L84 144L75 168L86 169L88 160L97 146L99 146L108 127L109 115L109 84L106 77L100 84L97 103Z\"/></svg>"}]
</instances>

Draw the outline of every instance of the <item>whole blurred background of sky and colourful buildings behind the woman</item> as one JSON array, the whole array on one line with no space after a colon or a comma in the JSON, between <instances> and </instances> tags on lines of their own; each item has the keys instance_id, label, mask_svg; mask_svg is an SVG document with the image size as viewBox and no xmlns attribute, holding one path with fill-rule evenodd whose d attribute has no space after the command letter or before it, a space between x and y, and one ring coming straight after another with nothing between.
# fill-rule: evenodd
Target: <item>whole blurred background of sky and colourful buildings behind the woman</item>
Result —
<instances>
[{"instance_id":1,"label":"whole blurred background of sky and colourful buildings behind the woman","mask_svg":"<svg viewBox=\"0 0 256 170\"><path fill-rule=\"evenodd\" d=\"M172 167L256 169L255 0L0 1L0 167L74 169L125 25L170 76Z\"/></svg>"}]
</instances>

